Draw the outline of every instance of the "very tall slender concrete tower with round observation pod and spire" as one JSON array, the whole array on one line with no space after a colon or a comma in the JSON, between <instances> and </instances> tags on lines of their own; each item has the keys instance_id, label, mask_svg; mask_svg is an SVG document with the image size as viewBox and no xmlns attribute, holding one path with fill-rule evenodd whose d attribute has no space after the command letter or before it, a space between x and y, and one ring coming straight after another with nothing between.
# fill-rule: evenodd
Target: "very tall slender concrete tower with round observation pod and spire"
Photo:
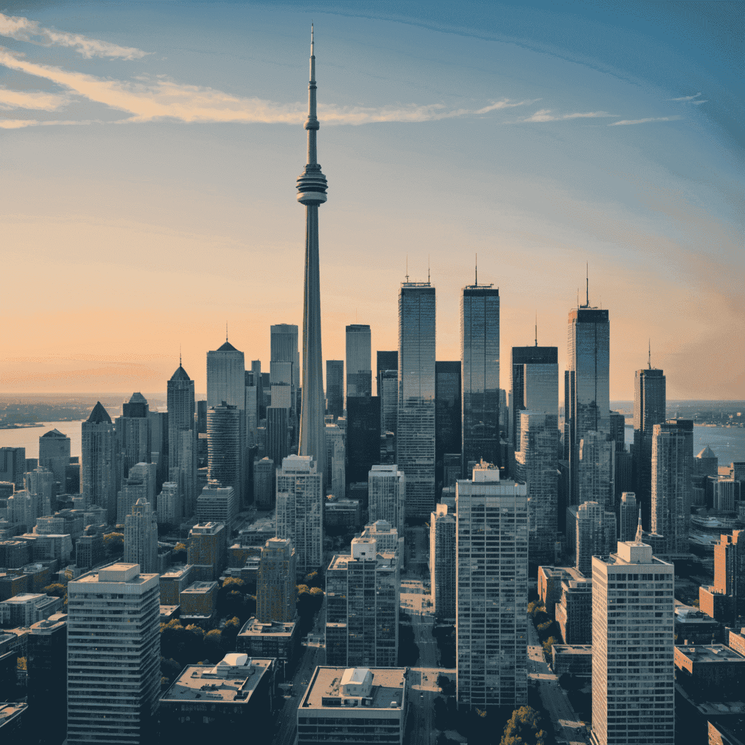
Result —
<instances>
[{"instance_id":1,"label":"very tall slender concrete tower with round observation pod and spire","mask_svg":"<svg viewBox=\"0 0 745 745\"><path fill-rule=\"evenodd\" d=\"M318 206L326 201L326 177L316 156L316 57L311 25L311 80L308 83L308 162L297 180L297 200L305 205L305 295L302 303L302 407L298 453L311 455L318 472L326 461L321 355L321 289L318 259Z\"/></svg>"}]
</instances>

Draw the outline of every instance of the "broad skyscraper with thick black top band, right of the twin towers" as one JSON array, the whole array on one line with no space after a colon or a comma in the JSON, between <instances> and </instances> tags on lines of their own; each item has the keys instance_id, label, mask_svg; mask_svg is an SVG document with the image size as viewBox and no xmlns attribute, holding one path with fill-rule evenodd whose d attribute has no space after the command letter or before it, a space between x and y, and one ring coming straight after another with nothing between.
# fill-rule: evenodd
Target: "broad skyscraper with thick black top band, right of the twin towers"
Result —
<instances>
[{"instance_id":1,"label":"broad skyscraper with thick black top band, right of the twin towers","mask_svg":"<svg viewBox=\"0 0 745 745\"><path fill-rule=\"evenodd\" d=\"M537 342L537 338L536 338ZM510 443L520 449L520 412L557 416L559 426L559 350L556 346L513 346L510 369Z\"/></svg>"}]
</instances>

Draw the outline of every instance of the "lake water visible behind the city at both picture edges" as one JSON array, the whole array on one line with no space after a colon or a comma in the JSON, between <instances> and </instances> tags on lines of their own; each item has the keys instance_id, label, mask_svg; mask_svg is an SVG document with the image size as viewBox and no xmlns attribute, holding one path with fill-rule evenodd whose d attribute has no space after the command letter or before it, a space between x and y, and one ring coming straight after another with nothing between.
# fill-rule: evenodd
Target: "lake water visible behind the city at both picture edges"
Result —
<instances>
[{"instance_id":1,"label":"lake water visible behind the city at both picture edges","mask_svg":"<svg viewBox=\"0 0 745 745\"><path fill-rule=\"evenodd\" d=\"M70 454L81 454L80 425L83 422L46 422L43 427L0 429L0 448L26 448L27 458L39 457L39 437L57 428L70 438ZM626 444L634 441L634 428L626 427ZM709 446L726 466L733 460L745 460L744 427L694 427L694 455Z\"/></svg>"}]
</instances>

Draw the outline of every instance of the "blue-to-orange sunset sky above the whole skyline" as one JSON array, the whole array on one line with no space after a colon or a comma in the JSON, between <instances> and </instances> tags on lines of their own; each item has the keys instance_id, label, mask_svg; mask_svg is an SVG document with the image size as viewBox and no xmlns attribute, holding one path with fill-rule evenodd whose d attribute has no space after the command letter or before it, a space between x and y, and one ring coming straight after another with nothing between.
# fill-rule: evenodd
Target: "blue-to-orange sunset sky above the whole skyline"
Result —
<instances>
[{"instance_id":1,"label":"blue-to-orange sunset sky above the whole skyline","mask_svg":"<svg viewBox=\"0 0 745 745\"><path fill-rule=\"evenodd\" d=\"M0 392L197 392L225 338L302 328L315 25L323 355L396 349L407 273L501 296L512 346L609 308L610 396L745 399L737 3L5 2ZM407 269L408 267L408 269ZM537 320L536 320L537 319ZM301 342L302 343L302 342Z\"/></svg>"}]
</instances>

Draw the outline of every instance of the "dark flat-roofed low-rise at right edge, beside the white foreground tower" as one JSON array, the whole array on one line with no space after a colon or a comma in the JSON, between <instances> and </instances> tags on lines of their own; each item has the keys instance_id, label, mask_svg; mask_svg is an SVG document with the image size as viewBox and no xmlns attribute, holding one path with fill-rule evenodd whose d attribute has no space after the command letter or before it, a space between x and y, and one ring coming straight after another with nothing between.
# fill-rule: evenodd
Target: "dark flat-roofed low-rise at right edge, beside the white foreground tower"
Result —
<instances>
[{"instance_id":1,"label":"dark flat-roofed low-rise at right edge, beside the white foreground tower","mask_svg":"<svg viewBox=\"0 0 745 745\"><path fill-rule=\"evenodd\" d=\"M729 691L741 691L745 682L745 657L724 644L691 644L675 647L676 682L697 697L719 701Z\"/></svg>"}]
</instances>

